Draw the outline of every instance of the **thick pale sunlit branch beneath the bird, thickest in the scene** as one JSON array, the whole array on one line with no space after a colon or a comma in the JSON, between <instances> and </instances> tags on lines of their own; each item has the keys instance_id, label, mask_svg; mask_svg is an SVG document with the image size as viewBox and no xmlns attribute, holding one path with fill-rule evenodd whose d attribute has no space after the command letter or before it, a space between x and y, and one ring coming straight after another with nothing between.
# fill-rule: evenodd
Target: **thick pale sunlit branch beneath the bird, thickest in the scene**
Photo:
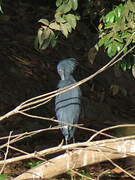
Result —
<instances>
[{"instance_id":1,"label":"thick pale sunlit branch beneath the bird, thickest in the scene","mask_svg":"<svg viewBox=\"0 0 135 180\"><path fill-rule=\"evenodd\" d=\"M132 138L85 142L81 143L81 145L82 148L68 151L63 155L50 159L26 171L14 180L50 179L72 169L100 163L108 159L120 159L135 155L135 139ZM130 176L130 174L128 175ZM132 175L131 177L135 178Z\"/></svg>"}]
</instances>

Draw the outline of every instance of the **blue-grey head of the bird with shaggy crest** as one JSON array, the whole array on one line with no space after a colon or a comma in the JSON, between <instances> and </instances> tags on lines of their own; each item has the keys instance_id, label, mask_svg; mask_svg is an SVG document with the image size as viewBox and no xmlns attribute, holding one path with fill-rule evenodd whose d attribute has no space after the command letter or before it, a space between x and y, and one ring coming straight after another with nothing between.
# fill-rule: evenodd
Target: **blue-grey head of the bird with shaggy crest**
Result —
<instances>
[{"instance_id":1,"label":"blue-grey head of the bird with shaggy crest","mask_svg":"<svg viewBox=\"0 0 135 180\"><path fill-rule=\"evenodd\" d=\"M57 71L62 80L66 80L75 70L77 61L74 58L68 58L60 61L57 65Z\"/></svg>"}]
</instances>

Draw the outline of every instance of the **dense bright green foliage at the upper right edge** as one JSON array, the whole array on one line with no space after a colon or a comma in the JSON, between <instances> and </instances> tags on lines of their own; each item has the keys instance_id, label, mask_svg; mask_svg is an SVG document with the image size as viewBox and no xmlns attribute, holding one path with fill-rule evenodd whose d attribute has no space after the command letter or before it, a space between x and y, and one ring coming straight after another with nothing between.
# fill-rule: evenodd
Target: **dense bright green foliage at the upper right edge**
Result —
<instances>
[{"instance_id":1,"label":"dense bright green foliage at the upper right edge","mask_svg":"<svg viewBox=\"0 0 135 180\"><path fill-rule=\"evenodd\" d=\"M135 2L127 0L124 4L116 6L106 16L102 18L99 25L99 42L96 48L104 46L109 57L124 49L124 53L135 43ZM104 26L104 27L103 27ZM132 57L133 59L133 57ZM120 62L119 67L122 70L131 69L130 62Z\"/></svg>"}]
</instances>

